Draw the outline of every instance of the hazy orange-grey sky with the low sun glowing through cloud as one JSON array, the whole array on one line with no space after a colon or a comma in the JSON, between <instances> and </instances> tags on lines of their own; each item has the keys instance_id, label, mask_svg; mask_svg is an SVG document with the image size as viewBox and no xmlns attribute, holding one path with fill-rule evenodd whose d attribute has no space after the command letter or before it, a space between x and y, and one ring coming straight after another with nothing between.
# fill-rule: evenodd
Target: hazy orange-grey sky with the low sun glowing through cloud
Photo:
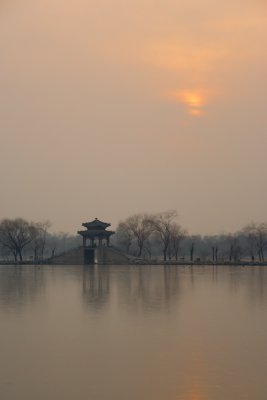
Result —
<instances>
[{"instance_id":1,"label":"hazy orange-grey sky with the low sun glowing through cloud","mask_svg":"<svg viewBox=\"0 0 267 400\"><path fill-rule=\"evenodd\" d=\"M267 220L266 0L0 0L0 218Z\"/></svg>"}]
</instances>

